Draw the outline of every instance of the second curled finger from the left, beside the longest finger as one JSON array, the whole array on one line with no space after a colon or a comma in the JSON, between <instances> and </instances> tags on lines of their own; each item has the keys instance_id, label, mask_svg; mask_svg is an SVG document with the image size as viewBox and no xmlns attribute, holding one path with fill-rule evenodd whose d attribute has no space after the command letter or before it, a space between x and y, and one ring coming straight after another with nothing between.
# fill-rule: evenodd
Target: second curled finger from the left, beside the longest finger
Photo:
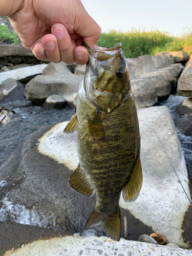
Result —
<instances>
[{"instance_id":1,"label":"second curled finger from the left, beside the longest finger","mask_svg":"<svg viewBox=\"0 0 192 256\"><path fill-rule=\"evenodd\" d=\"M61 61L57 39L52 34L44 35L41 39L41 44L45 48L45 54L49 61L58 63Z\"/></svg>"}]
</instances>

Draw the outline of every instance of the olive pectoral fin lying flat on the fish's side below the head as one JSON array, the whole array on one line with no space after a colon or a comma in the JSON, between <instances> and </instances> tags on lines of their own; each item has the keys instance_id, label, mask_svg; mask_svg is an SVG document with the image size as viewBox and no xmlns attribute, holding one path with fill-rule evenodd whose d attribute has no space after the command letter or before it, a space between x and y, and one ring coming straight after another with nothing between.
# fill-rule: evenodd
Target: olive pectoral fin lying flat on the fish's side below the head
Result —
<instances>
[{"instance_id":1,"label":"olive pectoral fin lying flat on the fish's side below the head","mask_svg":"<svg viewBox=\"0 0 192 256\"><path fill-rule=\"evenodd\" d=\"M104 138L104 128L99 113L96 110L87 113L89 132L94 139Z\"/></svg>"}]
</instances>

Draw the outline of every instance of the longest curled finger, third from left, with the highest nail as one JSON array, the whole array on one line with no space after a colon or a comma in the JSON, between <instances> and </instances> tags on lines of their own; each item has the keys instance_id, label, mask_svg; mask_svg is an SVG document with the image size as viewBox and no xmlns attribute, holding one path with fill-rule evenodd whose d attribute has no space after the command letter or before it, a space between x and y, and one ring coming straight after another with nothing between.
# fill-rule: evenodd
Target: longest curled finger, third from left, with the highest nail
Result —
<instances>
[{"instance_id":1,"label":"longest curled finger, third from left, with the highest nail","mask_svg":"<svg viewBox=\"0 0 192 256\"><path fill-rule=\"evenodd\" d=\"M68 64L73 63L75 61L74 48L76 44L74 40L72 43L66 27L60 23L56 23L52 26L51 32L57 39L61 60Z\"/></svg>"}]
</instances>

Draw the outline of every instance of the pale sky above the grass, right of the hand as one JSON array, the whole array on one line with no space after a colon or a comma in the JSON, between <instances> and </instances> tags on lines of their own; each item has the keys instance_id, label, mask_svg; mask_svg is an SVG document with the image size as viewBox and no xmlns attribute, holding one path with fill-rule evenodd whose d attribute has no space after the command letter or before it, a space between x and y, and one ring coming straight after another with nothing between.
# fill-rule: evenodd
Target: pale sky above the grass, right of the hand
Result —
<instances>
[{"instance_id":1,"label":"pale sky above the grass, right of the hand","mask_svg":"<svg viewBox=\"0 0 192 256\"><path fill-rule=\"evenodd\" d=\"M192 30L192 0L81 0L102 32L158 29L180 36Z\"/></svg>"}]
</instances>

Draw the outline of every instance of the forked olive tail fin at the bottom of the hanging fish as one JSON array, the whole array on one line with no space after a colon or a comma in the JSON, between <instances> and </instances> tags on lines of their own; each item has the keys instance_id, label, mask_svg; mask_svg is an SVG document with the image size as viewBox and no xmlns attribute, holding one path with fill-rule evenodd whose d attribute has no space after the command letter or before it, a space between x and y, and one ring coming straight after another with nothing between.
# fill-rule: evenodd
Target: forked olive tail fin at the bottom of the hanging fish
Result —
<instances>
[{"instance_id":1,"label":"forked olive tail fin at the bottom of the hanging fish","mask_svg":"<svg viewBox=\"0 0 192 256\"><path fill-rule=\"evenodd\" d=\"M116 214L112 214L109 216L101 215L99 211L96 209L93 210L90 215L85 229L89 229L96 225L103 224L104 231L108 237L115 241L120 240L121 235L121 214L120 209L118 208Z\"/></svg>"}]
</instances>

